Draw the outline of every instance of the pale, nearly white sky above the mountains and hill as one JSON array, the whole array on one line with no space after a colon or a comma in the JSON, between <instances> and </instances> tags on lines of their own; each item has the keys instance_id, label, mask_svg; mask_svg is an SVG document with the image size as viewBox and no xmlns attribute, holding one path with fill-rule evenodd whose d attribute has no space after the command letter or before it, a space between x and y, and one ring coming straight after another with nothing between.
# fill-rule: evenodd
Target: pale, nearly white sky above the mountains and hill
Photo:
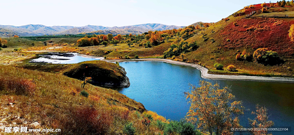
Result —
<instances>
[{"instance_id":1,"label":"pale, nearly white sky above the mountains and hill","mask_svg":"<svg viewBox=\"0 0 294 135\"><path fill-rule=\"evenodd\" d=\"M6 0L0 25L127 26L162 23L187 26L217 22L262 0ZM269 1L266 1L267 3Z\"/></svg>"}]
</instances>

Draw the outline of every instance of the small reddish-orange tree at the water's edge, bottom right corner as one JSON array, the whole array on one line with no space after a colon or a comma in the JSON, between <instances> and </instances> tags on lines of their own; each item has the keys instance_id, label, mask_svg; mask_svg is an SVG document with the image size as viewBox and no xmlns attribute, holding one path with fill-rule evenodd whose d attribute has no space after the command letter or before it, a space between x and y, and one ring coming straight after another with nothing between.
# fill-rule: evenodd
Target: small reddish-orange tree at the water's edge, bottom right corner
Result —
<instances>
[{"instance_id":1,"label":"small reddish-orange tree at the water's edge, bottom right corner","mask_svg":"<svg viewBox=\"0 0 294 135\"><path fill-rule=\"evenodd\" d=\"M274 125L273 121L268 120L268 109L265 107L260 107L258 104L256 105L256 111L252 112L251 114L255 114L255 120L251 120L248 118L249 125L252 128L258 128L258 129L266 129L270 128ZM268 133L267 130L252 130L250 131L253 135L272 135L271 133Z\"/></svg>"}]
</instances>

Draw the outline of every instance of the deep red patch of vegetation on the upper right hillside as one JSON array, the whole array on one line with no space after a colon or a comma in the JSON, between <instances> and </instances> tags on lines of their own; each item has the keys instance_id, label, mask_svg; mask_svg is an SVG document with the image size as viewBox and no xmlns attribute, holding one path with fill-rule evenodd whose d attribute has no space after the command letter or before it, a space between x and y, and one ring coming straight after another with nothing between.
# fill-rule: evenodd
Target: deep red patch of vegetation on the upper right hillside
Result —
<instances>
[{"instance_id":1,"label":"deep red patch of vegetation on the upper right hillside","mask_svg":"<svg viewBox=\"0 0 294 135\"><path fill-rule=\"evenodd\" d=\"M268 48L285 56L294 54L294 44L288 36L294 20L243 18L235 22L236 26L232 22L220 32L224 48L251 46L255 50Z\"/></svg>"}]
</instances>

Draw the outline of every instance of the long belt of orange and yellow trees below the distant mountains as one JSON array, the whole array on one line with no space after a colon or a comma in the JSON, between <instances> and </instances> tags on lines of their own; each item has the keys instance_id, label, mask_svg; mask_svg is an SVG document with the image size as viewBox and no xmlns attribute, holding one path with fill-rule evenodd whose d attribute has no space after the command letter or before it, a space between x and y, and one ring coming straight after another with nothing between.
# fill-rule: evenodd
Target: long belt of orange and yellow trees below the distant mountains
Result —
<instances>
[{"instance_id":1,"label":"long belt of orange and yellow trees below the distant mountains","mask_svg":"<svg viewBox=\"0 0 294 135\"><path fill-rule=\"evenodd\" d=\"M172 29L172 30L163 30L163 31L148 31L142 34L126 34L121 35L118 34L116 36L113 36L112 34L100 34L100 35L92 35L92 36L84 36L81 39L78 39L77 43L79 46L94 46L94 45L107 45L107 44L114 44L117 45L118 43L126 43L128 46L131 46L133 44L139 44L139 46L144 45L146 48L159 45L163 43L164 40L168 42L169 39L175 37L177 38L177 41L184 41L191 37L195 30L202 30L203 28L207 28L211 26L213 23L199 23L196 26L190 25L185 28L179 28L179 29ZM140 44L143 39L146 38L146 42L143 44ZM178 42L178 43L179 43ZM184 44L183 44L184 45ZM184 45L184 46L189 46ZM194 46L193 46L194 47ZM192 48L193 48L192 47ZM188 50L191 47L186 48ZM181 48L179 48L181 50ZM184 50L184 52L186 52Z\"/></svg>"}]
</instances>

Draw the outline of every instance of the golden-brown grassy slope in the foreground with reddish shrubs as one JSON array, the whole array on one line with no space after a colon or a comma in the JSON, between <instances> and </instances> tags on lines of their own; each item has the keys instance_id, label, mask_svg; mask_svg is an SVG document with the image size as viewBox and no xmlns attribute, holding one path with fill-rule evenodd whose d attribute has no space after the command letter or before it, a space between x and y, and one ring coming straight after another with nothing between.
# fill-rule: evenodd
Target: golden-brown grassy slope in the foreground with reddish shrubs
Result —
<instances>
[{"instance_id":1,"label":"golden-brown grassy slope in the foreground with reddish shrubs","mask_svg":"<svg viewBox=\"0 0 294 135\"><path fill-rule=\"evenodd\" d=\"M60 128L62 134L123 134L131 121L136 134L163 134L148 119L141 103L115 90L85 85L61 74L0 65L0 121L3 126ZM13 83L13 85L10 85ZM19 90L19 91L18 91ZM79 94L85 90L89 97ZM163 117L152 114L153 119ZM2 130L2 129L1 129Z\"/></svg>"}]
</instances>

